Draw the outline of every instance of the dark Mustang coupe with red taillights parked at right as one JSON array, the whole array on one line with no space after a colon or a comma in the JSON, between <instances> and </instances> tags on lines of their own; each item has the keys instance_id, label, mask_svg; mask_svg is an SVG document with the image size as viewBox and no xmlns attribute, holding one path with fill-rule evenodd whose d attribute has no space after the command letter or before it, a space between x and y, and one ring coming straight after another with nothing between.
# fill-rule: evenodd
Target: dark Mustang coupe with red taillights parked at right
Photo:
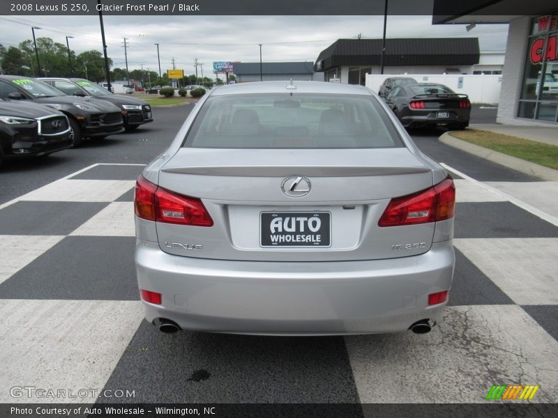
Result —
<instances>
[{"instance_id":1,"label":"dark Mustang coupe with red taillights parked at right","mask_svg":"<svg viewBox=\"0 0 558 418\"><path fill-rule=\"evenodd\" d=\"M455 93L443 84L397 86L385 100L405 127L446 126L450 130L464 130L469 126L469 96Z\"/></svg>"}]
</instances>

